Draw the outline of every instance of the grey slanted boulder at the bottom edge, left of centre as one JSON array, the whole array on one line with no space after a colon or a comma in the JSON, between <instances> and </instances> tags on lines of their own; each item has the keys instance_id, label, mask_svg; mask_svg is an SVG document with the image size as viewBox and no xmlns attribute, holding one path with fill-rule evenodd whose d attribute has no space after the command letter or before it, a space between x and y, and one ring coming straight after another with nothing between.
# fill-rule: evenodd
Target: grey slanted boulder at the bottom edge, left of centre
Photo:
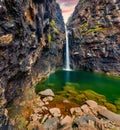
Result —
<instances>
[{"instance_id":1,"label":"grey slanted boulder at the bottom edge, left of centre","mask_svg":"<svg viewBox=\"0 0 120 130\"><path fill-rule=\"evenodd\" d=\"M59 125L59 119L57 117L53 117L48 119L44 124L43 127L45 130L57 130Z\"/></svg>"}]
</instances>

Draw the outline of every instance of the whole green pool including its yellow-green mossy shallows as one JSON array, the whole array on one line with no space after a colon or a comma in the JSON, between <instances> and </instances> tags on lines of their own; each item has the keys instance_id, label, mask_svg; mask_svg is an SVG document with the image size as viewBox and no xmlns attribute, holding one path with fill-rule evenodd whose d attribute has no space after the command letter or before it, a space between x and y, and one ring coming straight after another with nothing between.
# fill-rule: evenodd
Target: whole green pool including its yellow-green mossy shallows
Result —
<instances>
[{"instance_id":1,"label":"whole green pool including its yellow-green mossy shallows","mask_svg":"<svg viewBox=\"0 0 120 130\"><path fill-rule=\"evenodd\" d=\"M36 92L50 88L61 98L81 103L93 99L108 108L120 111L120 79L85 71L59 70L44 82L38 83Z\"/></svg>"}]
</instances>

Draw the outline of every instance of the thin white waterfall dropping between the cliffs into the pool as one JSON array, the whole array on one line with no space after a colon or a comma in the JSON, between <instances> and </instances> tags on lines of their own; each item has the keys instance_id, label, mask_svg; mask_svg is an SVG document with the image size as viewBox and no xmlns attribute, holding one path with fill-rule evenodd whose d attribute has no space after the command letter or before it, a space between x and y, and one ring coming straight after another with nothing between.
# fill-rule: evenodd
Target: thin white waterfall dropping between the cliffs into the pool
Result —
<instances>
[{"instance_id":1,"label":"thin white waterfall dropping between the cliffs into the pool","mask_svg":"<svg viewBox=\"0 0 120 130\"><path fill-rule=\"evenodd\" d=\"M69 38L68 38L68 30L65 25L65 34L66 34L66 65L65 69L70 70L70 52L69 52Z\"/></svg>"}]
</instances>

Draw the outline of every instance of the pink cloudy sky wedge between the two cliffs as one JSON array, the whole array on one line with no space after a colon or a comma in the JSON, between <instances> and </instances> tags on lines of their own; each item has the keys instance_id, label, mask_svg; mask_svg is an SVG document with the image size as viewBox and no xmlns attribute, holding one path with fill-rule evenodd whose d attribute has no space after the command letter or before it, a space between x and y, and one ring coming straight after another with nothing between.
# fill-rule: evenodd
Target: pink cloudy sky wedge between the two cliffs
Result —
<instances>
[{"instance_id":1,"label":"pink cloudy sky wedge between the two cliffs","mask_svg":"<svg viewBox=\"0 0 120 130\"><path fill-rule=\"evenodd\" d=\"M62 9L65 23L74 11L74 7L77 5L78 1L79 0L57 0L57 2L60 4L60 8Z\"/></svg>"}]
</instances>

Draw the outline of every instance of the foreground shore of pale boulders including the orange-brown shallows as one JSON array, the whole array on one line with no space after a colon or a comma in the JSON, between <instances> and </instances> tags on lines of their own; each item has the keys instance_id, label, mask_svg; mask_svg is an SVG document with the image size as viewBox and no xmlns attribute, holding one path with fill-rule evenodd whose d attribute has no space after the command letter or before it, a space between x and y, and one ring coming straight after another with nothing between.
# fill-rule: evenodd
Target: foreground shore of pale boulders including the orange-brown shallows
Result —
<instances>
[{"instance_id":1,"label":"foreground shore of pale boulders including the orange-brown shallows","mask_svg":"<svg viewBox=\"0 0 120 130\"><path fill-rule=\"evenodd\" d=\"M10 120L13 126L18 125L17 129L120 130L119 114L109 111L106 107L100 106L92 100L87 100L82 106L72 104L68 100L55 102L55 94L51 89L41 91L36 98L31 97L29 102L24 101L20 104L23 106L29 105L27 110L23 110L22 115L27 115L25 118L26 124L23 123L23 119L16 124L15 120L19 116ZM30 110L30 104L32 112L28 114L26 112ZM21 126L23 124L26 126Z\"/></svg>"}]
</instances>

